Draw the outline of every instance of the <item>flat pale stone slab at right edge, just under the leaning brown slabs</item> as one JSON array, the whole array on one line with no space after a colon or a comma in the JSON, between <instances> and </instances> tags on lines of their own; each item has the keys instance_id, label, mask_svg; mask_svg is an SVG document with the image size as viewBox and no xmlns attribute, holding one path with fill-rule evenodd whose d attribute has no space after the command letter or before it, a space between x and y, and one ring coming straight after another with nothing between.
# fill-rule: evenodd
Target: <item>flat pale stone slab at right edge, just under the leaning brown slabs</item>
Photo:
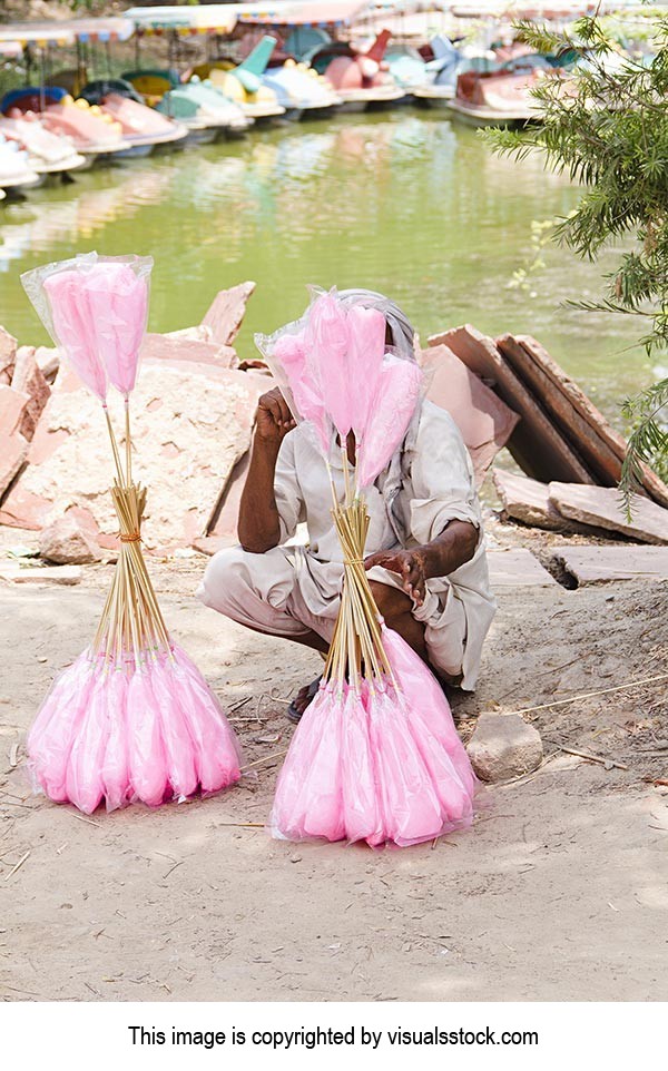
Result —
<instances>
[{"instance_id":1,"label":"flat pale stone slab at right edge, just under the leaning brown slabs","mask_svg":"<svg viewBox=\"0 0 668 1071\"><path fill-rule=\"evenodd\" d=\"M550 502L563 517L582 524L621 532L641 543L668 543L668 510L633 495L632 520L627 519L617 488L550 483Z\"/></svg>"}]
</instances>

